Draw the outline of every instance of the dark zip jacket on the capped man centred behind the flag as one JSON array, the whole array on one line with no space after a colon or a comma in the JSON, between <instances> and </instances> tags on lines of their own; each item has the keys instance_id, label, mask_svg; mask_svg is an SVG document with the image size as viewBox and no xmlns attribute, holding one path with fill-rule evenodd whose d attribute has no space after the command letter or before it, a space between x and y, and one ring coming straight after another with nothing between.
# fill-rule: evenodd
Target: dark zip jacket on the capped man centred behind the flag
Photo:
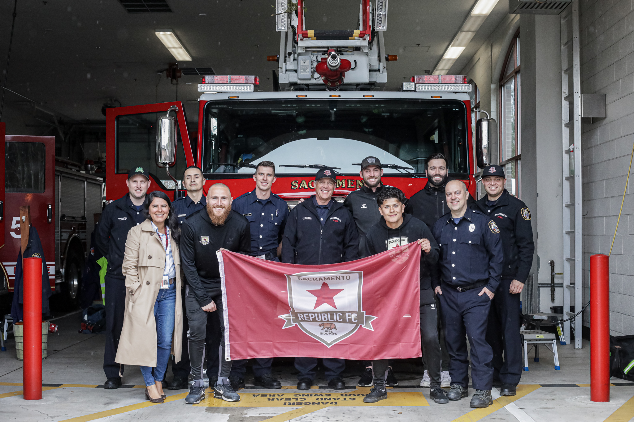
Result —
<instances>
[{"instance_id":1,"label":"dark zip jacket on the capped man centred behind the flag","mask_svg":"<svg viewBox=\"0 0 634 422\"><path fill-rule=\"evenodd\" d=\"M358 254L359 235L353 216L340 202L332 200L323 227L313 197L290 211L281 244L283 263L337 264L354 261Z\"/></svg>"}]
</instances>

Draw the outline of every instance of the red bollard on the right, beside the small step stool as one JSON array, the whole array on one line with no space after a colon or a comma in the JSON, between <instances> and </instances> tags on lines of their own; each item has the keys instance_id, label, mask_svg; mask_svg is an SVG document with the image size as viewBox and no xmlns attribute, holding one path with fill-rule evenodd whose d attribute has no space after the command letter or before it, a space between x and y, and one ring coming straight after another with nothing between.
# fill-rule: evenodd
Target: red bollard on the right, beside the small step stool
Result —
<instances>
[{"instance_id":1,"label":"red bollard on the right, beside the small step stool","mask_svg":"<svg viewBox=\"0 0 634 422\"><path fill-rule=\"evenodd\" d=\"M590 256L590 400L610 401L610 258L602 254Z\"/></svg>"}]
</instances>

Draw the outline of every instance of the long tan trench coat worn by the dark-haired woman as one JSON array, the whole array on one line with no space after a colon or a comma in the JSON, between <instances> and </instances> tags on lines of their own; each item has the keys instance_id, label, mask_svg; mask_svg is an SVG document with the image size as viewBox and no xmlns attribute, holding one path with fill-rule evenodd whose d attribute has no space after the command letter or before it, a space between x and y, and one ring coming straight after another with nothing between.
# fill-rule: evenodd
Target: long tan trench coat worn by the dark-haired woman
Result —
<instances>
[{"instance_id":1,"label":"long tan trench coat worn by the dark-haired woman","mask_svg":"<svg viewBox=\"0 0 634 422\"><path fill-rule=\"evenodd\" d=\"M183 342L183 309L181 305L181 257L172 242L172 258L176 266L176 313L172 354L181 360ZM126 313L117 348L116 363L157 366L157 328L154 304L160 292L165 267L165 249L160 237L152 229L152 221L145 220L127 233L123 275L126 276Z\"/></svg>"}]
</instances>

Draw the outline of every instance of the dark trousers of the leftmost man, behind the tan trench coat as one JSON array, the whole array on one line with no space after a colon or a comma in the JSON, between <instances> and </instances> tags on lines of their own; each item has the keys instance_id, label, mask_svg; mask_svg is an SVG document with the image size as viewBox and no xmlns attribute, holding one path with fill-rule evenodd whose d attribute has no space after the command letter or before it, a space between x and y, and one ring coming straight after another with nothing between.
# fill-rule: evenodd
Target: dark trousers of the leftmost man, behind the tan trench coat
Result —
<instances>
[{"instance_id":1,"label":"dark trousers of the leftmost man, behind the tan trench coat","mask_svg":"<svg viewBox=\"0 0 634 422\"><path fill-rule=\"evenodd\" d=\"M115 362L119 337L126 312L126 280L105 276L106 301L106 346L103 351L103 371L106 378L119 378L124 366Z\"/></svg>"}]
</instances>

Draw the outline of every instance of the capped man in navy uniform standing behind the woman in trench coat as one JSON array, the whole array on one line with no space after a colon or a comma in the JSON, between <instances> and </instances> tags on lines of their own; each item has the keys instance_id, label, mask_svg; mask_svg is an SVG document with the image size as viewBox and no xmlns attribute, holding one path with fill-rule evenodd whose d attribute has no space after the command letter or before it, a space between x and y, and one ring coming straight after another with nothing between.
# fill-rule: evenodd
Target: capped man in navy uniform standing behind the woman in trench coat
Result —
<instances>
[{"instance_id":1,"label":"capped man in navy uniform standing behind the woman in trench coat","mask_svg":"<svg viewBox=\"0 0 634 422\"><path fill-rule=\"evenodd\" d=\"M146 168L133 167L127 174L129 193L110 202L101 213L94 237L100 252L108 260L105 276L106 345L103 353L103 371L108 380L103 388L112 390L121 385L123 365L115 363L119 337L126 311L126 277L121 266L126 251L127 232L145 221L143 202L150 187L150 173Z\"/></svg>"}]
</instances>

